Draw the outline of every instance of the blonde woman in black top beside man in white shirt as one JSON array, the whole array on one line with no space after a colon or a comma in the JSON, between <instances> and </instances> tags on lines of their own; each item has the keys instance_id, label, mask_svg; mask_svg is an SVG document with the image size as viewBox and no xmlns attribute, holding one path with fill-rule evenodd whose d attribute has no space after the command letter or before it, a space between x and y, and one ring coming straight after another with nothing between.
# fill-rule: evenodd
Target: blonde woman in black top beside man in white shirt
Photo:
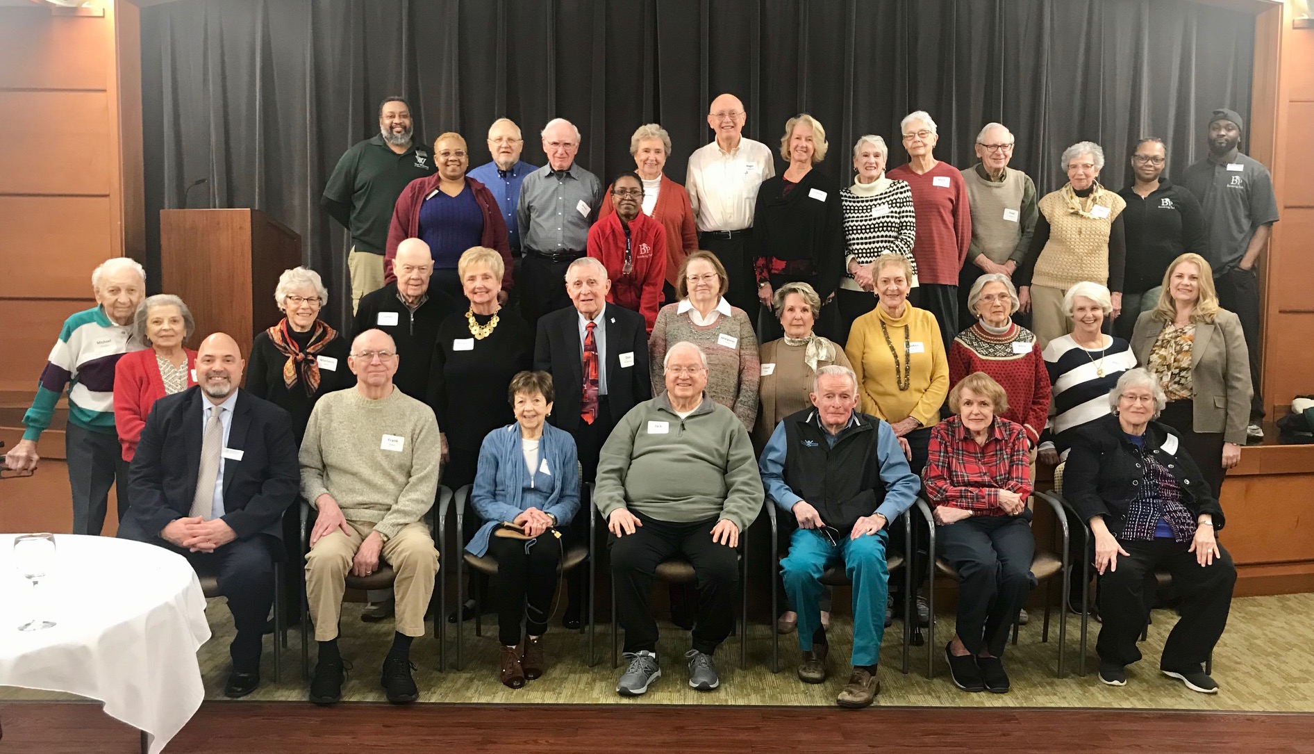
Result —
<instances>
[{"instance_id":1,"label":"blonde woman in black top beside man in white shirt","mask_svg":"<svg viewBox=\"0 0 1314 754\"><path fill-rule=\"evenodd\" d=\"M753 211L753 274L762 313L758 342L781 338L771 295L786 283L807 283L821 296L816 334L834 338L838 314L834 289L844 270L844 228L840 189L833 178L812 167L825 159L825 129L803 113L784 124L781 157L790 161L782 175L762 182ZM841 341L842 342L842 341Z\"/></svg>"}]
</instances>

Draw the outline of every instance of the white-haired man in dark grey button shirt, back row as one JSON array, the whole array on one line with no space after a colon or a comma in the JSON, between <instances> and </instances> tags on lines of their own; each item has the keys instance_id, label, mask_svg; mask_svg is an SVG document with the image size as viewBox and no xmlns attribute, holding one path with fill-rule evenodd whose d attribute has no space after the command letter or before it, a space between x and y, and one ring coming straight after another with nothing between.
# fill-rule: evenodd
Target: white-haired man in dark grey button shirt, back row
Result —
<instances>
[{"instance_id":1,"label":"white-haired man in dark grey button shirt, back row","mask_svg":"<svg viewBox=\"0 0 1314 754\"><path fill-rule=\"evenodd\" d=\"M524 176L516 207L524 253L520 311L531 328L543 314L570 305L566 267L587 251L589 226L602 203L598 176L574 163L579 129L565 118L548 121L543 151L548 164Z\"/></svg>"}]
</instances>

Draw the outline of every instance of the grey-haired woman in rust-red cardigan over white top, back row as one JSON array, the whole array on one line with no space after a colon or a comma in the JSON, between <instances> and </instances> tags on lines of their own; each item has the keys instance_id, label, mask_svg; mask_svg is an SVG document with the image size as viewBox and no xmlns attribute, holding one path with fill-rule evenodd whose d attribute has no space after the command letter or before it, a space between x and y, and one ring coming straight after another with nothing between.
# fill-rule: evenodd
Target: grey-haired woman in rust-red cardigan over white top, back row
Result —
<instances>
[{"instance_id":1,"label":"grey-haired woman in rust-red cardigan over white top, back row","mask_svg":"<svg viewBox=\"0 0 1314 754\"><path fill-rule=\"evenodd\" d=\"M639 126L629 137L629 154L635 158L635 172L644 182L643 212L666 229L666 283L662 299L668 304L677 301L675 280L685 257L698 250L698 228L694 225L694 205L689 201L685 187L666 178L662 168L670 157L670 134L657 124ZM616 211L615 199L608 186L602 207L598 209L598 222ZM652 329L652 322L648 322Z\"/></svg>"}]
</instances>

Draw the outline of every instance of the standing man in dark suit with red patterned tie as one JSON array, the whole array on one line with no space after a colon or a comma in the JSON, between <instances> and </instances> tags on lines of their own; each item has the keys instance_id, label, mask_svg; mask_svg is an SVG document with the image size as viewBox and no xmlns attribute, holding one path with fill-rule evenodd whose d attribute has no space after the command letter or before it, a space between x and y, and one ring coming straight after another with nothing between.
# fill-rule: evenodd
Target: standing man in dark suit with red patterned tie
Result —
<instances>
[{"instance_id":1,"label":"standing man in dark suit with red patterned tie","mask_svg":"<svg viewBox=\"0 0 1314 754\"><path fill-rule=\"evenodd\" d=\"M648 376L648 328L639 312L607 303L611 280L607 268L593 257L582 257L566 268L570 308L539 318L533 368L552 375L556 390L552 424L576 438L582 474L593 482L598 451L616 420L652 397ZM589 372L590 380L585 379ZM587 537L589 517L576 516L573 536ZM576 568L566 579L569 593L562 625L579 628L581 576Z\"/></svg>"}]
</instances>

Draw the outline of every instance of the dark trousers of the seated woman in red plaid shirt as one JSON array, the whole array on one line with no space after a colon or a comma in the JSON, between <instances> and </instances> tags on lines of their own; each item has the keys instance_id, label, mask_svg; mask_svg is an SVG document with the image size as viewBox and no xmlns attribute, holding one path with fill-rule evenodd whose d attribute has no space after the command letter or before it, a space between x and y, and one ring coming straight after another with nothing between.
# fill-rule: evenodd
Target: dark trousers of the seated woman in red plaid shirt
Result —
<instances>
[{"instance_id":1,"label":"dark trousers of the seated woman in red plaid shirt","mask_svg":"<svg viewBox=\"0 0 1314 754\"><path fill-rule=\"evenodd\" d=\"M1031 512L936 526L940 553L958 571L958 638L972 654L1003 657L1008 630L1035 587Z\"/></svg>"}]
</instances>

